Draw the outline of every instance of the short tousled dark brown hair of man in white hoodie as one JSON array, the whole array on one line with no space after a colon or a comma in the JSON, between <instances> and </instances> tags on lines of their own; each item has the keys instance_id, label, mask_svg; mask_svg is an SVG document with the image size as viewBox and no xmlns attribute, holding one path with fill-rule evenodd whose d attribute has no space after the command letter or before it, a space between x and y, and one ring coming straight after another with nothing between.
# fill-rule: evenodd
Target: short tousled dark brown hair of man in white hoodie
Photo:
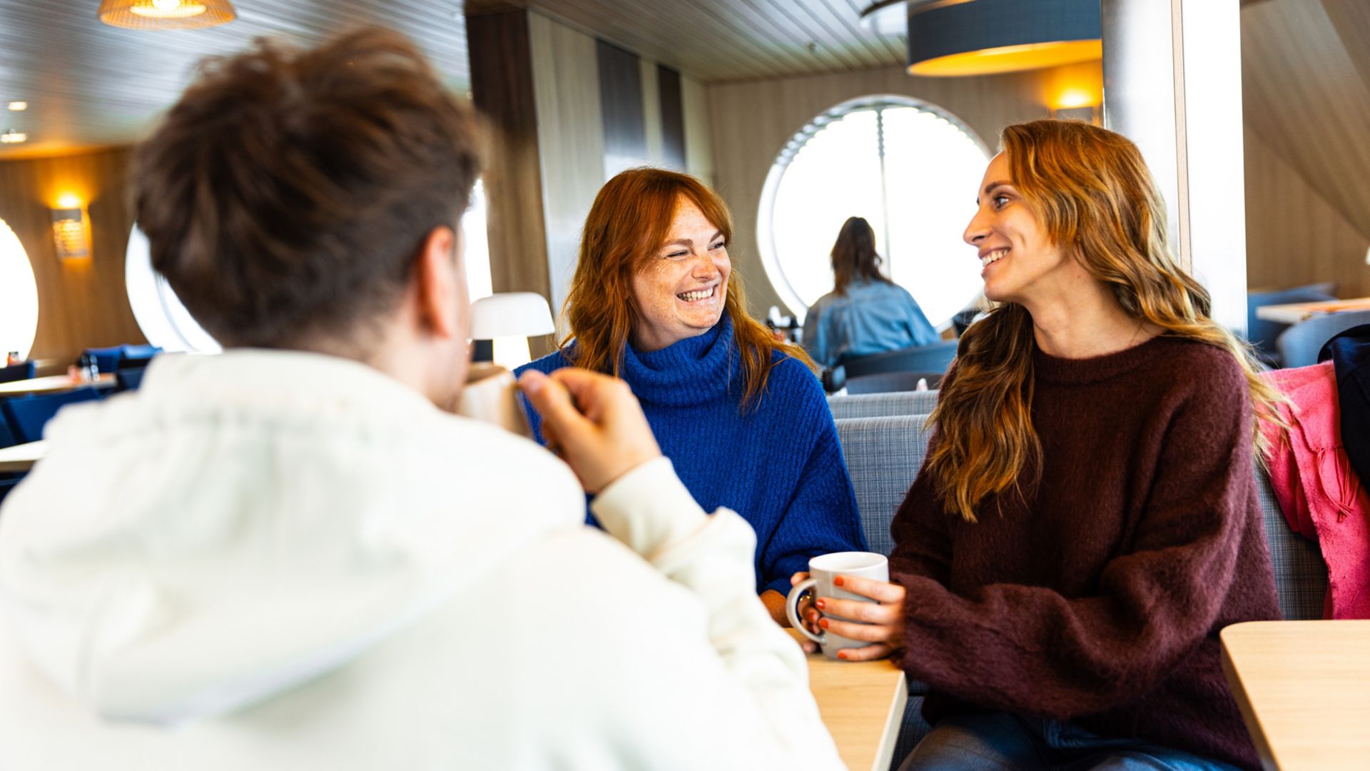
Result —
<instances>
[{"instance_id":1,"label":"short tousled dark brown hair of man in white hoodie","mask_svg":"<svg viewBox=\"0 0 1370 771\"><path fill-rule=\"evenodd\" d=\"M393 306L427 233L466 210L482 147L399 33L258 40L204 60L138 148L138 225L210 333L292 347Z\"/></svg>"}]
</instances>

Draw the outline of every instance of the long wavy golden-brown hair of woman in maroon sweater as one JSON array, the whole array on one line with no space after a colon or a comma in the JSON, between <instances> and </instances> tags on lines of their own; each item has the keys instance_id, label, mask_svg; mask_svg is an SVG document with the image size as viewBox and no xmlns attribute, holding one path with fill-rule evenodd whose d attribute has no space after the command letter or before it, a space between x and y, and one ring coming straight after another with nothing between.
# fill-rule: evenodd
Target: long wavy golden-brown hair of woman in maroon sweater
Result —
<instances>
[{"instance_id":1,"label":"long wavy golden-brown hair of woman in maroon sweater","mask_svg":"<svg viewBox=\"0 0 1370 771\"><path fill-rule=\"evenodd\" d=\"M1012 184L1055 244L1108 284L1123 310L1229 351L1251 392L1258 457L1260 420L1281 424L1282 396L1263 377L1251 348L1210 318L1208 292L1178 263L1166 236L1166 209L1141 152L1122 134L1078 121L1032 121L1001 134ZM1000 303L960 337L954 376L929 418L937 442L927 471L947 509L975 521L993 495L1022 494L1025 469L1041 473L1032 424L1033 321L1021 305ZM1036 483L1036 479L1028 480Z\"/></svg>"}]
</instances>

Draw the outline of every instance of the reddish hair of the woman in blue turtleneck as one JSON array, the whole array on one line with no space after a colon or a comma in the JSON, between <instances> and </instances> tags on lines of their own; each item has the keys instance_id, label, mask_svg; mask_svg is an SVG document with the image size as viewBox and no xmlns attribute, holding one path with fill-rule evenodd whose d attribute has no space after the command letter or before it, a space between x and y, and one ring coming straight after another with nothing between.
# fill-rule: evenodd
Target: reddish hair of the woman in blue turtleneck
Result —
<instances>
[{"instance_id":1,"label":"reddish hair of the woman in blue turtleneck","mask_svg":"<svg viewBox=\"0 0 1370 771\"><path fill-rule=\"evenodd\" d=\"M623 351L641 320L633 296L633 276L647 269L670 235L680 202L688 199L733 243L733 215L723 199L704 182L664 169L629 169L610 180L590 207L581 232L571 291L563 313L570 332L559 347L575 366L618 376ZM747 314L743 283L734 270L727 280L723 310L733 320L747 388L743 406L766 391L775 351L814 361L800 347L775 340L770 329ZM574 344L571 344L574 342Z\"/></svg>"}]
</instances>

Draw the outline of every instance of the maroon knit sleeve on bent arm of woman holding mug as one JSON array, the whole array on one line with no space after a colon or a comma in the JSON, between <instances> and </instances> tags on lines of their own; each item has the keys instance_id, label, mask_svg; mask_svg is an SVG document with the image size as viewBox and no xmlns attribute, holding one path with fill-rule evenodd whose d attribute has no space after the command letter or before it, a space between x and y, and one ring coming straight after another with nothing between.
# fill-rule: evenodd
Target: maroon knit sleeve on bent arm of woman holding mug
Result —
<instances>
[{"instance_id":1,"label":"maroon knit sleeve on bent arm of woman holding mug","mask_svg":"<svg viewBox=\"0 0 1370 771\"><path fill-rule=\"evenodd\" d=\"M956 698L1058 719L1118 707L1174 669L1211 632L1241 542L1251 407L1234 376L1175 410L1134 535L1095 595L1004 583L951 591L941 506L930 483L915 483L893 524L892 568L907 587L901 667Z\"/></svg>"}]
</instances>

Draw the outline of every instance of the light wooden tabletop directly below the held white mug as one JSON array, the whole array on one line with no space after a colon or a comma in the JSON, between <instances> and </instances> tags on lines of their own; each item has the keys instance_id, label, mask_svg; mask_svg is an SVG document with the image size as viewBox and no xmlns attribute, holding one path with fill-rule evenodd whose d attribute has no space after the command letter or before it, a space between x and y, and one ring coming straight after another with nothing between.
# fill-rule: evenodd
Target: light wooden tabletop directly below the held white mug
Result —
<instances>
[{"instance_id":1,"label":"light wooden tabletop directly below the held white mug","mask_svg":"<svg viewBox=\"0 0 1370 771\"><path fill-rule=\"evenodd\" d=\"M803 639L795 630L789 634ZM888 659L837 661L812 653L808 687L843 763L852 771L886 771L908 701L904 672Z\"/></svg>"}]
</instances>

